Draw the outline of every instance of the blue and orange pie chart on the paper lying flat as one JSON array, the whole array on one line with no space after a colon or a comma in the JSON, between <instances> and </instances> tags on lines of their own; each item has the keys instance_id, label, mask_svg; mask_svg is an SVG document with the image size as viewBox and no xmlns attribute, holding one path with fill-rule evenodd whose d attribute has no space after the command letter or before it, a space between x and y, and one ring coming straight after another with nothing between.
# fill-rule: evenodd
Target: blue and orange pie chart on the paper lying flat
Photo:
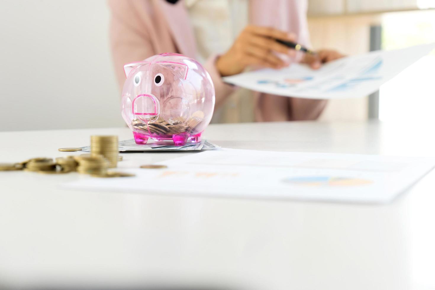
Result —
<instances>
[{"instance_id":1,"label":"blue and orange pie chart on the paper lying flat","mask_svg":"<svg viewBox=\"0 0 435 290\"><path fill-rule=\"evenodd\" d=\"M354 177L305 176L288 177L284 183L305 187L357 187L373 183L371 180Z\"/></svg>"}]
</instances>

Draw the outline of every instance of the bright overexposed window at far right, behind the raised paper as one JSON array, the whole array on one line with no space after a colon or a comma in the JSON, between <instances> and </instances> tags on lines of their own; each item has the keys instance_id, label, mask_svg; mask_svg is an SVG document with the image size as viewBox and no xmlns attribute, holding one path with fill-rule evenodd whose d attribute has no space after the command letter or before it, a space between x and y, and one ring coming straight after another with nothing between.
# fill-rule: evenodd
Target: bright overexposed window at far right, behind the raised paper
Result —
<instances>
[{"instance_id":1,"label":"bright overexposed window at far right, behind the raised paper","mask_svg":"<svg viewBox=\"0 0 435 290\"><path fill-rule=\"evenodd\" d=\"M430 42L435 42L435 10L388 13L382 18L383 49ZM379 95L382 121L435 122L435 52L381 86Z\"/></svg>"}]
</instances>

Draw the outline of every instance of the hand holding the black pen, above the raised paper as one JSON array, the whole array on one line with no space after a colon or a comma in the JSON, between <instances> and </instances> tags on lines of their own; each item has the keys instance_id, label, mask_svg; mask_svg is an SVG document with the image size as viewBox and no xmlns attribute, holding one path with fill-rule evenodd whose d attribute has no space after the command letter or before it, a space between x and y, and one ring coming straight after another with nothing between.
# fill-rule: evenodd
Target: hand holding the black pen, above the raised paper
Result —
<instances>
[{"instance_id":1,"label":"hand holding the black pen, above the raised paper","mask_svg":"<svg viewBox=\"0 0 435 290\"><path fill-rule=\"evenodd\" d=\"M278 43L275 39L295 41L293 33L270 27L249 25L239 34L233 46L216 61L222 77L241 73L249 65L281 68L284 63L274 52L294 56L295 50Z\"/></svg>"}]
</instances>

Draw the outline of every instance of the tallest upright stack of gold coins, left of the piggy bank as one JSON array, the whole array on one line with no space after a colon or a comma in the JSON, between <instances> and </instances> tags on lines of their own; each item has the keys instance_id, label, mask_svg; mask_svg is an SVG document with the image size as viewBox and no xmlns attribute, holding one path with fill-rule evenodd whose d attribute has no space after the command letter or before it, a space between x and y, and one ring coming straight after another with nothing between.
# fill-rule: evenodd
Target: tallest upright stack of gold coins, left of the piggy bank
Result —
<instances>
[{"instance_id":1,"label":"tallest upright stack of gold coins, left of the piggy bank","mask_svg":"<svg viewBox=\"0 0 435 290\"><path fill-rule=\"evenodd\" d=\"M92 156L97 157L98 155L102 155L104 158L106 158L109 162L109 168L116 167L118 162L118 137L97 135L91 136L90 153Z\"/></svg>"}]
</instances>

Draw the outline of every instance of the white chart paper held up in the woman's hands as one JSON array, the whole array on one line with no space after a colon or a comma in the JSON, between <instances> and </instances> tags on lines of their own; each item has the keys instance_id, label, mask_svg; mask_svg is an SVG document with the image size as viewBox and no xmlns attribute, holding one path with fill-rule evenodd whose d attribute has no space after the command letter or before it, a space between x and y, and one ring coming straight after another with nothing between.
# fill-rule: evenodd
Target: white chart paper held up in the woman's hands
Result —
<instances>
[{"instance_id":1,"label":"white chart paper held up in the woman's hands","mask_svg":"<svg viewBox=\"0 0 435 290\"><path fill-rule=\"evenodd\" d=\"M293 63L281 70L262 69L224 77L224 81L286 97L365 97L434 48L435 43L431 43L400 50L378 50L331 61L318 70Z\"/></svg>"}]
</instances>

